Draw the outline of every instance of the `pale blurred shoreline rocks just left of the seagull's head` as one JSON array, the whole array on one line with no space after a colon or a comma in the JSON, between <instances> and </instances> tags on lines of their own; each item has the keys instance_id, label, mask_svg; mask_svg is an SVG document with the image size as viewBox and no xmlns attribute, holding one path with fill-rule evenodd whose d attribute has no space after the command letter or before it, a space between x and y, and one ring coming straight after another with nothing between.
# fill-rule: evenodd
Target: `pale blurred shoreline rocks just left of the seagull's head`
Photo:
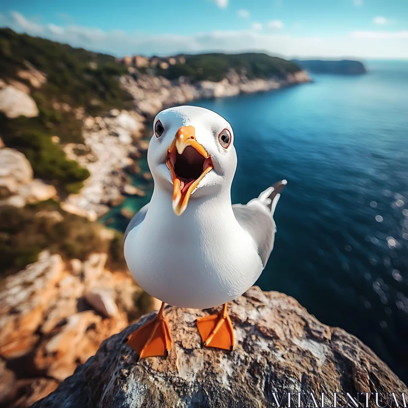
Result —
<instances>
[{"instance_id":1,"label":"pale blurred shoreline rocks just left of the seagull's head","mask_svg":"<svg viewBox=\"0 0 408 408\"><path fill-rule=\"evenodd\" d=\"M84 144L64 147L67 157L86 167L90 176L80 194L71 194L63 203L65 211L96 220L120 201L129 183L124 172L138 155L135 146L144 130L144 118L136 112L112 109L107 117L84 119Z\"/></svg>"}]
</instances>

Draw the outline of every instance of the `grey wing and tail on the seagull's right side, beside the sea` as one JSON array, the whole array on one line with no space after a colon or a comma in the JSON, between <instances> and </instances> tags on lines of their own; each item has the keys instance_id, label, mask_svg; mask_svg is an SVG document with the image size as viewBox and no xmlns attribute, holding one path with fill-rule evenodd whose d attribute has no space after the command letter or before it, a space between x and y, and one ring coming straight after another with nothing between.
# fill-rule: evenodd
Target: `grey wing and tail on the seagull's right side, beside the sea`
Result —
<instances>
[{"instance_id":1,"label":"grey wing and tail on the seagull's right side, beside the sea","mask_svg":"<svg viewBox=\"0 0 408 408\"><path fill-rule=\"evenodd\" d=\"M275 239L276 224L273 220L273 213L286 184L286 180L277 182L246 205L235 204L233 206L236 220L258 245L258 253L264 268L272 252Z\"/></svg>"}]
</instances>

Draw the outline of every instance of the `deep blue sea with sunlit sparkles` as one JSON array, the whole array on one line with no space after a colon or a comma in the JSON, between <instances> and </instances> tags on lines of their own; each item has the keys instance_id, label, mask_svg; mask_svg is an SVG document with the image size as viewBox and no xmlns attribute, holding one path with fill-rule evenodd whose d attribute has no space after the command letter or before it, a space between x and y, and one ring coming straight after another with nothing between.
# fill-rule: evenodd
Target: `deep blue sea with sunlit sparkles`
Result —
<instances>
[{"instance_id":1,"label":"deep blue sea with sunlit sparkles","mask_svg":"<svg viewBox=\"0 0 408 408\"><path fill-rule=\"evenodd\" d=\"M355 335L408 383L408 61L366 66L365 75L312 75L311 84L194 105L233 126L233 202L288 180L257 284ZM124 202L137 210L152 184L134 182L149 193ZM119 210L105 219L123 230Z\"/></svg>"}]
</instances>

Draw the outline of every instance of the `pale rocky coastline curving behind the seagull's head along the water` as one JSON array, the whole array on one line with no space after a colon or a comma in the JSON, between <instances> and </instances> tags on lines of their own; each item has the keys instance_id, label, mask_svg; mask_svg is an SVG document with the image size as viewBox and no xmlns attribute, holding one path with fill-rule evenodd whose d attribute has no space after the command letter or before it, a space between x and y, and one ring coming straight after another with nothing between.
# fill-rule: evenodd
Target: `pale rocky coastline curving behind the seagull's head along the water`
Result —
<instances>
[{"instance_id":1,"label":"pale rocky coastline curving behind the seagull's head along the water","mask_svg":"<svg viewBox=\"0 0 408 408\"><path fill-rule=\"evenodd\" d=\"M90 176L81 192L68 195L62 207L92 221L108 214L111 208L125 200L126 195L145 195L140 186L132 186L131 175L141 174L146 181L149 179L146 171L142 174L138 161L147 154L148 141L143 140L147 127L161 110L199 99L270 92L312 82L304 70L288 74L284 80L248 79L231 70L220 82L194 84L183 77L169 81L134 70L129 75L122 75L119 81L132 95L134 110L112 109L106 117L84 117L84 144L70 143L64 147L68 158L87 168Z\"/></svg>"}]
</instances>

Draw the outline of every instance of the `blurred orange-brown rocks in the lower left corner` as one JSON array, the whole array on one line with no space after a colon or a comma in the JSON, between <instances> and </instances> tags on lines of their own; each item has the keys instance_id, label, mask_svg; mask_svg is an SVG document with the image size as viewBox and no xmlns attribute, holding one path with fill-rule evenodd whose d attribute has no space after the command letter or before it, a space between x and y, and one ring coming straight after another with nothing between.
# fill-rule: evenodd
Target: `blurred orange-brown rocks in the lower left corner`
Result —
<instances>
[{"instance_id":1,"label":"blurred orange-brown rocks in the lower left corner","mask_svg":"<svg viewBox=\"0 0 408 408\"><path fill-rule=\"evenodd\" d=\"M25 407L55 389L101 341L157 303L105 253L65 263L47 251L0 290L0 405ZM4 404L4 405L3 405Z\"/></svg>"}]
</instances>

